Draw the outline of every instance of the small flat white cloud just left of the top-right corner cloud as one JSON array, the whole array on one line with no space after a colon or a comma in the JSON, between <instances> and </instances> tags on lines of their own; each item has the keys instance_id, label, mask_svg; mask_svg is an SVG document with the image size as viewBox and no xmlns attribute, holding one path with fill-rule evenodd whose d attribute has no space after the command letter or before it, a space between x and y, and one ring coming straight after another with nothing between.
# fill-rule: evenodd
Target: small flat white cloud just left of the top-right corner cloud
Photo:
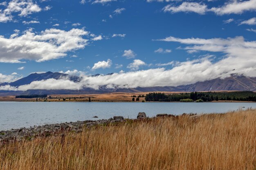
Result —
<instances>
[{"instance_id":1,"label":"small flat white cloud just left of the top-right corner cloud","mask_svg":"<svg viewBox=\"0 0 256 170\"><path fill-rule=\"evenodd\" d=\"M173 6L171 4L166 5L163 8L164 12L195 12L199 14L204 14L207 12L207 5L198 2L183 2L180 6Z\"/></svg>"}]
</instances>

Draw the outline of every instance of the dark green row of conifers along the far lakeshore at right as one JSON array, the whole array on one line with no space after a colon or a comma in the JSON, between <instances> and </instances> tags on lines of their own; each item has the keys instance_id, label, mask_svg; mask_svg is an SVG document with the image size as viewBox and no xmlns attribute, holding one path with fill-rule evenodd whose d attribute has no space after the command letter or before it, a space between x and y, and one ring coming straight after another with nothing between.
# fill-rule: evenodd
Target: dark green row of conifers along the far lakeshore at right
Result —
<instances>
[{"instance_id":1,"label":"dark green row of conifers along the far lakeshore at right","mask_svg":"<svg viewBox=\"0 0 256 170\"><path fill-rule=\"evenodd\" d=\"M252 91L235 92L191 92L179 94L148 93L145 100L148 102L180 102L181 99L202 99L204 102L218 100L234 100L256 102L256 93Z\"/></svg>"}]
</instances>

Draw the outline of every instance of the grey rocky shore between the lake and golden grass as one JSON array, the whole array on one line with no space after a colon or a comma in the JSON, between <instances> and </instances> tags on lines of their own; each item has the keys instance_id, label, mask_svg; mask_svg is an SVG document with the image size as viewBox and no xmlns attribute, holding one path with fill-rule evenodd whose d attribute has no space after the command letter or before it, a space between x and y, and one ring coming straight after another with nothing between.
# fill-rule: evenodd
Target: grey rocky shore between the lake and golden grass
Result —
<instances>
[{"instance_id":1,"label":"grey rocky shore between the lake and golden grass","mask_svg":"<svg viewBox=\"0 0 256 170\"><path fill-rule=\"evenodd\" d=\"M185 114L185 113L184 113ZM183 114L183 115L184 115ZM187 114L185 114L187 115ZM193 116L194 114L189 114ZM177 117L175 115L167 114L158 114L156 117ZM140 112L137 115L137 119L146 118L146 113ZM128 121L129 119L124 119L122 116L114 116L110 119L101 119L101 120L85 120L85 121L76 121L76 122L65 122L61 124L46 124L43 126L34 126L30 128L20 128L20 129L11 129L11 130L2 130L0 131L0 142L9 142L9 141L20 141L22 139L33 140L36 137L47 137L50 135L60 135L63 132L74 132L79 133L83 128L90 128L96 125L107 125L116 122Z\"/></svg>"}]
</instances>

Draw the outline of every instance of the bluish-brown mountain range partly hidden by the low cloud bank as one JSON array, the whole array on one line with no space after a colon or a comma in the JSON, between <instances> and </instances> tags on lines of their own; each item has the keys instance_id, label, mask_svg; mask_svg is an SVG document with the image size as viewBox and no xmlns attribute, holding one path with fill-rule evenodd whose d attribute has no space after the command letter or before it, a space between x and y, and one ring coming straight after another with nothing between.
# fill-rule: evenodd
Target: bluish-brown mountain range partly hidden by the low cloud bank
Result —
<instances>
[{"instance_id":1,"label":"bluish-brown mountain range partly hidden by the low cloud bank","mask_svg":"<svg viewBox=\"0 0 256 170\"><path fill-rule=\"evenodd\" d=\"M108 74L111 75L112 73ZM100 76L92 75L93 77ZM64 73L33 73L27 77L18 79L15 82L3 83L0 86L22 86L30 84L34 81L45 79L62 79L68 78L73 82L79 82L78 76L70 76ZM225 79L216 78L204 82L197 82L195 84L188 84L182 86L164 86L164 87L137 87L137 88L107 88L101 86L99 89L83 88L81 90L27 90L27 91L0 91L0 95L16 95L16 94L93 94L93 93L110 93L110 92L150 92L150 91L179 91L179 92L192 92L192 91L256 91L256 77L245 77L232 74Z\"/></svg>"}]
</instances>

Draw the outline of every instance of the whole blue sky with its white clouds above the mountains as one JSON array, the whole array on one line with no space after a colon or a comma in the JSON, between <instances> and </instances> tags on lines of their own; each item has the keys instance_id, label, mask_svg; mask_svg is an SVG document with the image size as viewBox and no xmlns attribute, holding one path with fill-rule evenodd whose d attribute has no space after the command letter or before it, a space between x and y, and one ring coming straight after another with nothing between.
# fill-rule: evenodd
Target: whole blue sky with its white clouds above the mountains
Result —
<instances>
[{"instance_id":1,"label":"whole blue sky with its white clouds above the mountains","mask_svg":"<svg viewBox=\"0 0 256 170\"><path fill-rule=\"evenodd\" d=\"M0 90L255 77L255 14L256 0L0 0L0 83L47 71L82 77Z\"/></svg>"}]
</instances>

